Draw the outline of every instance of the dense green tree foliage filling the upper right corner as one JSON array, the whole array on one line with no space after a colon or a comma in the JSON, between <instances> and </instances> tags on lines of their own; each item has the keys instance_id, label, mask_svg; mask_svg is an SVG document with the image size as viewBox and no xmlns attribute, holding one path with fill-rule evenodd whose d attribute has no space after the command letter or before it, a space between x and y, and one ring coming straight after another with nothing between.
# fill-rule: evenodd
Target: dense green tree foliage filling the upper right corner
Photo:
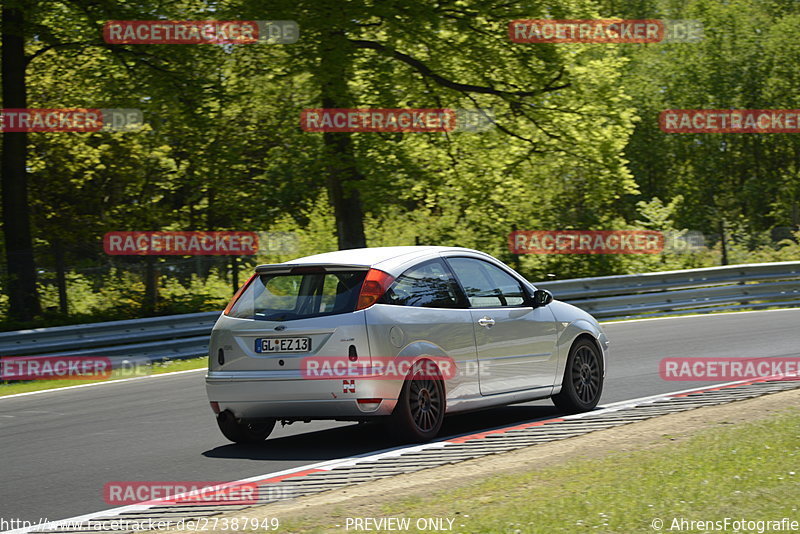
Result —
<instances>
[{"instance_id":1,"label":"dense green tree foliage filling the upper right corner","mask_svg":"<svg viewBox=\"0 0 800 534\"><path fill-rule=\"evenodd\" d=\"M654 16L701 21L705 38L629 49L625 85L641 121L625 152L642 197L682 195L679 222L705 233L720 235L740 221L754 233L800 224L796 135L666 134L658 127L665 109L800 107L800 78L788 67L800 58L800 5L657 4Z\"/></svg>"}]
</instances>

